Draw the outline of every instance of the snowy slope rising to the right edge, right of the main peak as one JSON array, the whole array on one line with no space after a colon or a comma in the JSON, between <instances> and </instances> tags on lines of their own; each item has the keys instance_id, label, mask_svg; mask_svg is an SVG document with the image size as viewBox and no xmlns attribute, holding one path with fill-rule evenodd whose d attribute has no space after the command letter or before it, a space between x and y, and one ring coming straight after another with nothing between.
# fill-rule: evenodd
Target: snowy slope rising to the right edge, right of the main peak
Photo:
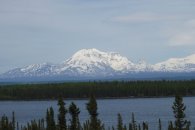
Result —
<instances>
[{"instance_id":1,"label":"snowy slope rising to the right edge, right of the main peak","mask_svg":"<svg viewBox=\"0 0 195 130\"><path fill-rule=\"evenodd\" d=\"M170 58L154 65L155 71L191 72L195 71L195 54L184 58Z\"/></svg>"}]
</instances>

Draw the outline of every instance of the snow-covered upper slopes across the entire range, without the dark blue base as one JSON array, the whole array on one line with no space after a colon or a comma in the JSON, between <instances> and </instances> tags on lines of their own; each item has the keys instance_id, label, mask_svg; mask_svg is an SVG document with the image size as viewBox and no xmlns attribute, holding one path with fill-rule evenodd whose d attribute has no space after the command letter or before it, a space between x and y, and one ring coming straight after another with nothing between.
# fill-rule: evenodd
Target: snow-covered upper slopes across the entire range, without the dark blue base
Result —
<instances>
[{"instance_id":1,"label":"snow-covered upper slopes across the entire range, without the dark blue base","mask_svg":"<svg viewBox=\"0 0 195 130\"><path fill-rule=\"evenodd\" d=\"M171 58L167 61L150 65L143 60L133 63L119 53L83 49L61 64L33 64L24 68L10 70L0 75L0 78L106 77L139 72L195 72L195 54L184 58Z\"/></svg>"}]
</instances>

